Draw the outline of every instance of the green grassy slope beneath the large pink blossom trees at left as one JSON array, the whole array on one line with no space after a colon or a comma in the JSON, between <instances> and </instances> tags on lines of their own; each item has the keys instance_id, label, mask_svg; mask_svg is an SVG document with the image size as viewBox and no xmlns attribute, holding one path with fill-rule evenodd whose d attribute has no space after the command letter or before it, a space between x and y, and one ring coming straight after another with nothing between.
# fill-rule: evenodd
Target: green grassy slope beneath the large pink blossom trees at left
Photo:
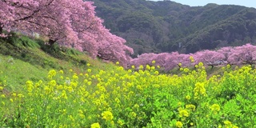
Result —
<instances>
[{"instance_id":1,"label":"green grassy slope beneath the large pink blossom trees at left","mask_svg":"<svg viewBox=\"0 0 256 128\"><path fill-rule=\"evenodd\" d=\"M14 38L0 38L0 82L9 90L18 90L27 80L37 82L46 78L49 70L70 70L84 73L90 63L92 72L111 70L115 66L92 59L77 50L46 46L42 40L32 40L15 34Z\"/></svg>"}]
</instances>

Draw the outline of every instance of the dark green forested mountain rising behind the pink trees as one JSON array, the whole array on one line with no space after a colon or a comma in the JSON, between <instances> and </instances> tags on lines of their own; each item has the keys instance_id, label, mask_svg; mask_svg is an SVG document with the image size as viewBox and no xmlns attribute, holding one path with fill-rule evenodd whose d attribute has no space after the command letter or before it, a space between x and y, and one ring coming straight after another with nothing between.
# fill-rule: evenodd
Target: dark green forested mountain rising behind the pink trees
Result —
<instances>
[{"instance_id":1,"label":"dark green forested mountain rising behind the pink trees","mask_svg":"<svg viewBox=\"0 0 256 128\"><path fill-rule=\"evenodd\" d=\"M146 0L93 0L106 28L142 53L198 50L256 43L256 9L207 4L186 6Z\"/></svg>"}]
</instances>

